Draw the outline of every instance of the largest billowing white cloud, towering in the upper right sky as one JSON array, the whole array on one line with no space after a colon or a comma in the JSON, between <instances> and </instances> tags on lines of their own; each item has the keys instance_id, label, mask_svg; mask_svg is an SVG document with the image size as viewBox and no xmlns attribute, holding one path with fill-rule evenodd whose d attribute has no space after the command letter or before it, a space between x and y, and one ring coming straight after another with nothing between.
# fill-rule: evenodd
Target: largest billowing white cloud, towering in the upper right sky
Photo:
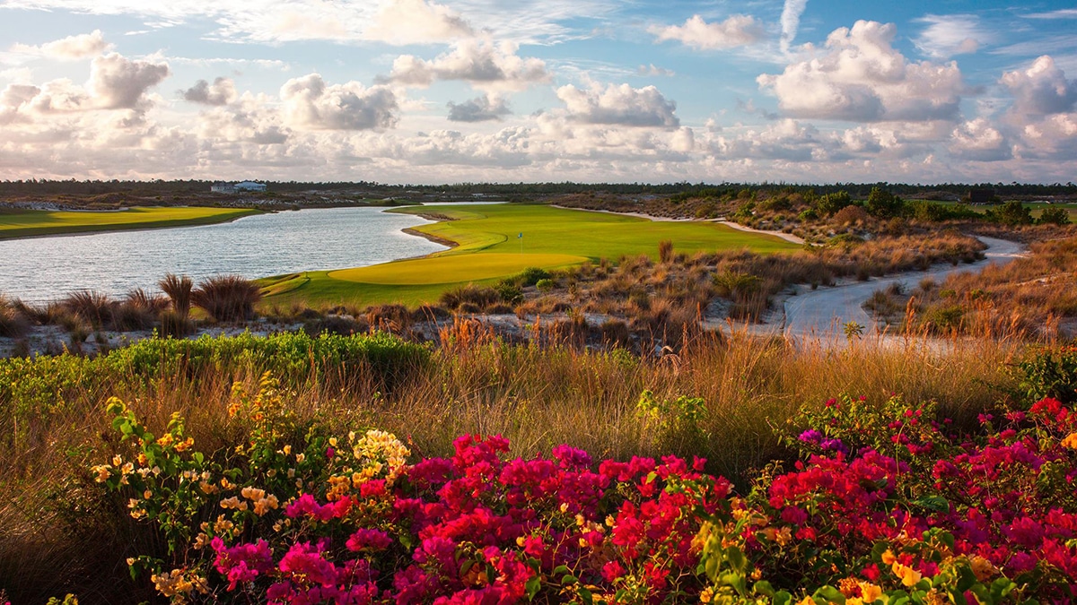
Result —
<instances>
[{"instance_id":1,"label":"largest billowing white cloud, towering in the upper right sky","mask_svg":"<svg viewBox=\"0 0 1077 605\"><path fill-rule=\"evenodd\" d=\"M965 86L954 62L910 62L892 46L893 24L859 20L835 30L827 52L763 74L793 117L853 122L955 119Z\"/></svg>"}]
</instances>

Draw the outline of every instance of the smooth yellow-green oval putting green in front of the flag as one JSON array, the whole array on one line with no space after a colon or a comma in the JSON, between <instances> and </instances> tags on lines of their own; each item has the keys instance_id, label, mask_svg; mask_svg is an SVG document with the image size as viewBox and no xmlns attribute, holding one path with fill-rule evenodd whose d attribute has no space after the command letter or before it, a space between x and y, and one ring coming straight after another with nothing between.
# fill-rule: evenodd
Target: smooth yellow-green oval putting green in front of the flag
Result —
<instances>
[{"instance_id":1,"label":"smooth yellow-green oval putting green in front of the flag","mask_svg":"<svg viewBox=\"0 0 1077 605\"><path fill-rule=\"evenodd\" d=\"M330 271L328 277L360 283L418 285L457 283L518 273L528 267L553 269L587 261L571 254L467 254L416 258Z\"/></svg>"}]
</instances>

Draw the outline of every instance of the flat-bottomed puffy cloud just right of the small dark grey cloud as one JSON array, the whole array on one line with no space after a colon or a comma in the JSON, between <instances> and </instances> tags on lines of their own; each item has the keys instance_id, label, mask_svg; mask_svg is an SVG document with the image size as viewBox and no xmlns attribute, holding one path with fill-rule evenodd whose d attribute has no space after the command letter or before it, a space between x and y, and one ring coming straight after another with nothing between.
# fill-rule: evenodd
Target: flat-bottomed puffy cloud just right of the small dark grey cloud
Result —
<instances>
[{"instance_id":1,"label":"flat-bottomed puffy cloud just right of the small dark grey cloud","mask_svg":"<svg viewBox=\"0 0 1077 605\"><path fill-rule=\"evenodd\" d=\"M628 84L610 84L602 88L596 83L579 89L570 84L558 88L557 97L564 101L570 117L576 122L665 128L681 125L674 115L676 103L654 86L632 88Z\"/></svg>"}]
</instances>

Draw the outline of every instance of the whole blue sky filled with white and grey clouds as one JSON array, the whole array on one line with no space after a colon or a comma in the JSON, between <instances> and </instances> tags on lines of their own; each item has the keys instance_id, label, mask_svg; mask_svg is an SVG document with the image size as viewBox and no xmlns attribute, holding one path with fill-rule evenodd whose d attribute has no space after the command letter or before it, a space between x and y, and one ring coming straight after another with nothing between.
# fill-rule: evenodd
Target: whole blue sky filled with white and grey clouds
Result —
<instances>
[{"instance_id":1,"label":"whole blue sky filled with white and grey clouds","mask_svg":"<svg viewBox=\"0 0 1077 605\"><path fill-rule=\"evenodd\" d=\"M0 179L1075 172L1075 4L0 0Z\"/></svg>"}]
</instances>

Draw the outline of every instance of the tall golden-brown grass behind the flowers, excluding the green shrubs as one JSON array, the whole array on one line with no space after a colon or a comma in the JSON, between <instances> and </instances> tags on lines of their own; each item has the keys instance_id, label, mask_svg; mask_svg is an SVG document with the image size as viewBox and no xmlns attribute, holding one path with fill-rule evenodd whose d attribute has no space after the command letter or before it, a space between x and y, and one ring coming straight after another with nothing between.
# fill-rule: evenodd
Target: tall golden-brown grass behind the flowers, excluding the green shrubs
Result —
<instances>
[{"instance_id":1,"label":"tall golden-brown grass behind the flowers, excluding the green shrubs","mask_svg":"<svg viewBox=\"0 0 1077 605\"><path fill-rule=\"evenodd\" d=\"M553 334L554 327L540 322L534 329ZM561 341L571 341L571 322L560 329ZM450 453L452 439L464 433L502 434L522 456L562 442L602 458L700 455L710 459L710 470L746 489L743 477L752 468L787 455L778 432L803 406L842 393L880 403L900 393L938 400L945 414L968 422L1012 386L1007 366L1020 354L1017 346L988 340L794 346L735 329L728 337L686 333L679 350L639 357L620 350L510 346L462 320L445 329L443 340L424 369L392 388L362 368L340 368L339 377L327 372L293 385L290 407L336 428L393 432L424 455ZM253 388L258 375L257 367L117 375L68 393L68 411L43 413L37 425L23 427L29 447L8 448L0 456L0 586L26 602L68 591L85 602L148 597L130 592L123 559L154 544L144 543L145 532L122 505L110 508L116 503L95 495L85 474L115 444L102 403L120 396L154 431L180 411L200 450L225 451L244 439L226 413L232 381ZM700 433L656 432L637 413L644 390L658 400L702 397Z\"/></svg>"}]
</instances>

